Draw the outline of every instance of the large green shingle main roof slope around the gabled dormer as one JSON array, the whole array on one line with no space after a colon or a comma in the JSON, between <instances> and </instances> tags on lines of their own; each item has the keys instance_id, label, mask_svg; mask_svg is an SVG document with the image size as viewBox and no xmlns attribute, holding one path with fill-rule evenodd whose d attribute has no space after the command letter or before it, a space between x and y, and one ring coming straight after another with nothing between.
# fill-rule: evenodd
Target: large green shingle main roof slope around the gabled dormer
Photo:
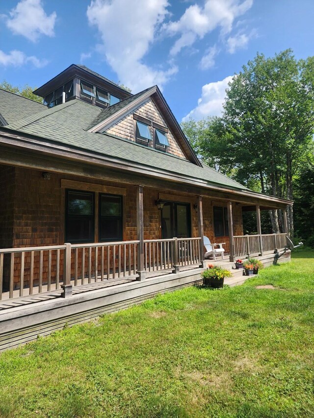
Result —
<instances>
[{"instance_id":1,"label":"large green shingle main roof slope around the gabled dormer","mask_svg":"<svg viewBox=\"0 0 314 418\"><path fill-rule=\"evenodd\" d=\"M142 92L142 94L144 93ZM132 99L134 96L125 100ZM119 103L112 108L117 105ZM105 111L109 110L110 107L105 109ZM76 99L51 109L45 107L44 111L30 115L20 121L12 121L5 128L36 135L66 146L118 158L129 164L138 163L164 172L194 177L229 188L246 189L231 178L206 165L199 167L183 158L113 135L88 132L87 129L91 124L95 123L96 120L102 120L105 111Z\"/></svg>"}]
</instances>

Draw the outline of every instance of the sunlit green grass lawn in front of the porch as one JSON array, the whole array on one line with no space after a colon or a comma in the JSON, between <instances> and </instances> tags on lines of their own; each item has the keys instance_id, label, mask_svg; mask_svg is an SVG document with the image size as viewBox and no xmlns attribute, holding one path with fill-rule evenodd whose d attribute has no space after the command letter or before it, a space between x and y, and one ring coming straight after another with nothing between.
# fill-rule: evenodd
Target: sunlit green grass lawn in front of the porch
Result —
<instances>
[{"instance_id":1,"label":"sunlit green grass lawn in front of the porch","mask_svg":"<svg viewBox=\"0 0 314 418\"><path fill-rule=\"evenodd\" d=\"M2 417L314 417L314 251L0 355ZM256 289L271 284L276 290Z\"/></svg>"}]
</instances>

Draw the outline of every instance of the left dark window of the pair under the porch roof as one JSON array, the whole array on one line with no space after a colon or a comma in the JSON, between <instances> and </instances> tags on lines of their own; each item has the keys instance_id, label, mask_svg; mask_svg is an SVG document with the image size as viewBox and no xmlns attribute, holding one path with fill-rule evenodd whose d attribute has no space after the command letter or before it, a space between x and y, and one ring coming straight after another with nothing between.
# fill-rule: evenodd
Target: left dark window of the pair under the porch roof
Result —
<instances>
[{"instance_id":1,"label":"left dark window of the pair under the porch roof","mask_svg":"<svg viewBox=\"0 0 314 418\"><path fill-rule=\"evenodd\" d=\"M66 242L93 242L94 218L94 193L67 190L65 216Z\"/></svg>"}]
</instances>

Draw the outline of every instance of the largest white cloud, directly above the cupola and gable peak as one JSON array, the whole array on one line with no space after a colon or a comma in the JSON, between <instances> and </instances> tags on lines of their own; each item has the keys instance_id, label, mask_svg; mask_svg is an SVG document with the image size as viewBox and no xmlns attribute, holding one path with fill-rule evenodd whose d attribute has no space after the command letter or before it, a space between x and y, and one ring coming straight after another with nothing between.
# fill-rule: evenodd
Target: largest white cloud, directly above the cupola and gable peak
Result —
<instances>
[{"instance_id":1,"label":"largest white cloud, directly above the cupola and gable peak","mask_svg":"<svg viewBox=\"0 0 314 418\"><path fill-rule=\"evenodd\" d=\"M101 35L99 48L123 84L137 92L158 84L162 88L178 69L153 69L142 62L167 15L167 0L92 0L87 18Z\"/></svg>"}]
</instances>

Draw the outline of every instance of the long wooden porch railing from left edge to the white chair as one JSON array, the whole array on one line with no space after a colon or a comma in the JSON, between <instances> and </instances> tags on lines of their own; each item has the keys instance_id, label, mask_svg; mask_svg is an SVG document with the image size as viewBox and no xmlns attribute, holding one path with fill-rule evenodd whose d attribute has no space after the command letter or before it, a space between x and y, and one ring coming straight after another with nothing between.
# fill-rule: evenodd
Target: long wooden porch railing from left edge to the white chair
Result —
<instances>
[{"instance_id":1,"label":"long wooden porch railing from left edge to the white chair","mask_svg":"<svg viewBox=\"0 0 314 418\"><path fill-rule=\"evenodd\" d=\"M138 276L139 241L0 249L0 300ZM144 270L200 265L201 238L144 241ZM168 271L167 271L168 270ZM170 271L169 271L170 270Z\"/></svg>"}]
</instances>

